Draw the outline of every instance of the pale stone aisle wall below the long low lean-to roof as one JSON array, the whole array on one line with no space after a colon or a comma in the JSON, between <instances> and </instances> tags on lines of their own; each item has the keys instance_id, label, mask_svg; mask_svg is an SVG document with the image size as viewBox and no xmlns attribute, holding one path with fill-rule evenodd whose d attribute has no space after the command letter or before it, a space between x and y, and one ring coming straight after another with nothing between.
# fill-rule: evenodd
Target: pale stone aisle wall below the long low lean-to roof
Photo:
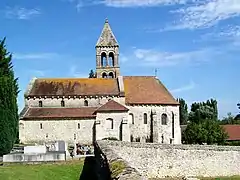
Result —
<instances>
[{"instance_id":1,"label":"pale stone aisle wall below the long low lean-to roof","mask_svg":"<svg viewBox=\"0 0 240 180\"><path fill-rule=\"evenodd\" d=\"M77 142L90 144L93 138L95 119L89 120L20 120L19 138L22 143L48 141ZM42 124L42 129L41 125ZM80 128L78 128L80 124Z\"/></svg>"}]
</instances>

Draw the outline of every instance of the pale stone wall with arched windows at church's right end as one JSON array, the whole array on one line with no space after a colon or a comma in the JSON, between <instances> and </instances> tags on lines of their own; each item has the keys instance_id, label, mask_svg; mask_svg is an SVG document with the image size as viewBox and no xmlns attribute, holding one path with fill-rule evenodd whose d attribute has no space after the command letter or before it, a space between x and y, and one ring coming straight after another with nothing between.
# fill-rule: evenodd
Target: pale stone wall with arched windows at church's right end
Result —
<instances>
[{"instance_id":1,"label":"pale stone wall with arched windows at church's right end","mask_svg":"<svg viewBox=\"0 0 240 180\"><path fill-rule=\"evenodd\" d=\"M130 133L136 141L140 139L140 142L146 142L146 139L150 137L150 125L151 125L151 112L155 113L153 116L154 131L156 141L158 143L170 144L173 139L173 144L181 144L181 129L179 123L179 106L128 106L129 114L133 114L133 120L129 116ZM144 113L147 114L147 124L144 124ZM167 115L167 124L161 123L162 114ZM173 122L174 121L174 122ZM134 123L134 124L133 124ZM172 126L174 125L174 138L172 132ZM162 138L163 137L163 138Z\"/></svg>"}]
</instances>

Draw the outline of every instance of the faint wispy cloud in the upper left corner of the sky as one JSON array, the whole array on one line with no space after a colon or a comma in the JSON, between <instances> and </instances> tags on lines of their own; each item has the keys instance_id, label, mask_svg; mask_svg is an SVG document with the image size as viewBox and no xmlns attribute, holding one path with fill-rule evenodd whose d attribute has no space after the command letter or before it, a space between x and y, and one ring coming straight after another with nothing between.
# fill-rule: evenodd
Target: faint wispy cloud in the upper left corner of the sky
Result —
<instances>
[{"instance_id":1,"label":"faint wispy cloud in the upper left corner of the sky","mask_svg":"<svg viewBox=\"0 0 240 180\"><path fill-rule=\"evenodd\" d=\"M6 17L11 19L16 18L20 20L27 20L40 14L41 11L37 8L26 9L24 7L7 7L5 10Z\"/></svg>"}]
</instances>

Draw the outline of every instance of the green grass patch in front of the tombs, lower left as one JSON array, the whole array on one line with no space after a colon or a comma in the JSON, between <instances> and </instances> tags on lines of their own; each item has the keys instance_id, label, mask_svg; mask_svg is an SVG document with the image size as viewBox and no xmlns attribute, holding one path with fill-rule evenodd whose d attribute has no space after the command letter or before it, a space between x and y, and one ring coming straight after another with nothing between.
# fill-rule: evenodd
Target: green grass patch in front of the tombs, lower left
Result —
<instances>
[{"instance_id":1,"label":"green grass patch in front of the tombs, lower left","mask_svg":"<svg viewBox=\"0 0 240 180\"><path fill-rule=\"evenodd\" d=\"M0 166L1 180L79 180L84 161Z\"/></svg>"}]
</instances>

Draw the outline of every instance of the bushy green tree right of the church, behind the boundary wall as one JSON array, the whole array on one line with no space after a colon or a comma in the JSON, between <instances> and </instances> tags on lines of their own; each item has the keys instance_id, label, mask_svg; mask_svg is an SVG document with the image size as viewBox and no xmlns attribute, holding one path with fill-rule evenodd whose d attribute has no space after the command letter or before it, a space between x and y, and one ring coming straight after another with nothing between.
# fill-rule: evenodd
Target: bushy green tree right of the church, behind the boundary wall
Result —
<instances>
[{"instance_id":1,"label":"bushy green tree right of the church, behind the boundary wall","mask_svg":"<svg viewBox=\"0 0 240 180\"><path fill-rule=\"evenodd\" d=\"M183 141L187 144L224 144L227 133L219 125L217 117L216 100L193 103Z\"/></svg>"}]
</instances>

